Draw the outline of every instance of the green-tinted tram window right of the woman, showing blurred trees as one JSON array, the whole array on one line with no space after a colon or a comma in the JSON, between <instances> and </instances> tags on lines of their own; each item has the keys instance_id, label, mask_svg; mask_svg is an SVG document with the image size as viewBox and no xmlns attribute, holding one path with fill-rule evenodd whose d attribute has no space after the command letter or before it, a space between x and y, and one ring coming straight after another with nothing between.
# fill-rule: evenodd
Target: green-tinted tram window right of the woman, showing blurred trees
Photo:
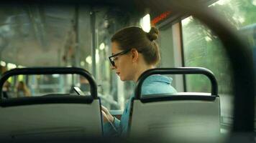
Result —
<instances>
[{"instance_id":1,"label":"green-tinted tram window right of the woman, showing blurred trees","mask_svg":"<svg viewBox=\"0 0 256 143\"><path fill-rule=\"evenodd\" d=\"M202 66L213 71L219 87L221 125L225 126L221 129L229 130L232 123L232 78L229 59L219 39L199 21L188 17L182 21L182 26L185 66ZM207 79L186 76L188 91L209 92L211 87L208 83Z\"/></svg>"}]
</instances>

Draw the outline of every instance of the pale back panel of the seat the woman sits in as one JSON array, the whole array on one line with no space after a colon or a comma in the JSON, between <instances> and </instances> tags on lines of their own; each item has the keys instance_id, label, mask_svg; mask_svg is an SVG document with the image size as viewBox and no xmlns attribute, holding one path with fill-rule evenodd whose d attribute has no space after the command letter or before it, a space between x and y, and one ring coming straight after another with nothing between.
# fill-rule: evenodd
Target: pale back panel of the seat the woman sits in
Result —
<instances>
[{"instance_id":1,"label":"pale back panel of the seat the woman sits in","mask_svg":"<svg viewBox=\"0 0 256 143\"><path fill-rule=\"evenodd\" d=\"M132 137L216 139L219 132L218 96L186 92L155 94L132 101L129 129Z\"/></svg>"}]
</instances>

